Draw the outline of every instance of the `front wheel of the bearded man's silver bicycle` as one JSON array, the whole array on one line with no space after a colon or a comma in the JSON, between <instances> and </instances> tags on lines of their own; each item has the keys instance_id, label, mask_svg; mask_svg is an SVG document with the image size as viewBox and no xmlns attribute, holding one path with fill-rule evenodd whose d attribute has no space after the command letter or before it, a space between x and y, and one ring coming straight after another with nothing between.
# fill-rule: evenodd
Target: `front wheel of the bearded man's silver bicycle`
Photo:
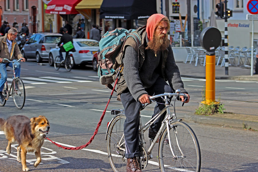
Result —
<instances>
[{"instance_id":1,"label":"front wheel of the bearded man's silver bicycle","mask_svg":"<svg viewBox=\"0 0 258 172\"><path fill-rule=\"evenodd\" d=\"M161 135L159 142L159 164L162 172L167 171L194 171L201 168L201 151L196 135L184 122L173 122L169 127L171 147L164 144L168 138L167 128Z\"/></svg>"}]
</instances>

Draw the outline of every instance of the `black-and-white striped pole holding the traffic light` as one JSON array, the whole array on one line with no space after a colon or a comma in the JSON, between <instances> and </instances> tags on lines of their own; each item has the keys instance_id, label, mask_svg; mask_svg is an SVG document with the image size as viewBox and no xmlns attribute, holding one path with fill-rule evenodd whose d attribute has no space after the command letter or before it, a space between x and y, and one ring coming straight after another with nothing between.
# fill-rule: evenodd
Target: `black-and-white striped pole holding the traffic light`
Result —
<instances>
[{"instance_id":1,"label":"black-and-white striped pole holding the traffic light","mask_svg":"<svg viewBox=\"0 0 258 172\"><path fill-rule=\"evenodd\" d=\"M227 9L227 0L225 2L225 75L228 75L228 16L226 15L226 9Z\"/></svg>"}]
</instances>

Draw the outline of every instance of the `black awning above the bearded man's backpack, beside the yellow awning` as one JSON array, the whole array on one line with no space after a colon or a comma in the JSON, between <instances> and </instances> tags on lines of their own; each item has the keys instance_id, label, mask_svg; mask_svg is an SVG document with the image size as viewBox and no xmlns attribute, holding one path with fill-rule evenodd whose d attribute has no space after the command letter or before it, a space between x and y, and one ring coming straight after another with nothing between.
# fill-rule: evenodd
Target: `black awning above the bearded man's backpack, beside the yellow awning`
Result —
<instances>
[{"instance_id":1,"label":"black awning above the bearded man's backpack, beside the yellow awning","mask_svg":"<svg viewBox=\"0 0 258 172\"><path fill-rule=\"evenodd\" d=\"M101 19L141 19L157 13L156 0L103 0Z\"/></svg>"}]
</instances>

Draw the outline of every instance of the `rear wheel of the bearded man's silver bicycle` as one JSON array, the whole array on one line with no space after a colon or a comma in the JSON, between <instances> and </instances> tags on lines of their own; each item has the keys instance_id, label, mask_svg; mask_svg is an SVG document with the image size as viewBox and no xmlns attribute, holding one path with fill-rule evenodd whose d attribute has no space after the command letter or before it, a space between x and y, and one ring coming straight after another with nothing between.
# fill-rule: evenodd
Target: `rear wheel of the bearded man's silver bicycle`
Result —
<instances>
[{"instance_id":1,"label":"rear wheel of the bearded man's silver bicycle","mask_svg":"<svg viewBox=\"0 0 258 172\"><path fill-rule=\"evenodd\" d=\"M114 172L126 171L124 121L126 116L116 116L107 131L107 155Z\"/></svg>"}]
</instances>

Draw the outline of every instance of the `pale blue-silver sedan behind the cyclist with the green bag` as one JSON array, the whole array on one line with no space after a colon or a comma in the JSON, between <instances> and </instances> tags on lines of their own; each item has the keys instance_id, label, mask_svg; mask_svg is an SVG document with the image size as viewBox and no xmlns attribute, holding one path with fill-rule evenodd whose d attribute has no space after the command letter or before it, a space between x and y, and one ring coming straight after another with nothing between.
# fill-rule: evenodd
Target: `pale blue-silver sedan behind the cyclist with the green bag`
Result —
<instances>
[{"instance_id":1,"label":"pale blue-silver sedan behind the cyclist with the green bag","mask_svg":"<svg viewBox=\"0 0 258 172\"><path fill-rule=\"evenodd\" d=\"M91 65L92 55L99 51L99 42L92 39L73 39L73 46L75 52L69 54L73 57L73 65ZM50 50L48 55L48 63L50 66L54 65L54 59L59 56L60 48L53 48ZM62 53L65 57L65 52ZM73 66L73 67L74 67Z\"/></svg>"}]
</instances>

